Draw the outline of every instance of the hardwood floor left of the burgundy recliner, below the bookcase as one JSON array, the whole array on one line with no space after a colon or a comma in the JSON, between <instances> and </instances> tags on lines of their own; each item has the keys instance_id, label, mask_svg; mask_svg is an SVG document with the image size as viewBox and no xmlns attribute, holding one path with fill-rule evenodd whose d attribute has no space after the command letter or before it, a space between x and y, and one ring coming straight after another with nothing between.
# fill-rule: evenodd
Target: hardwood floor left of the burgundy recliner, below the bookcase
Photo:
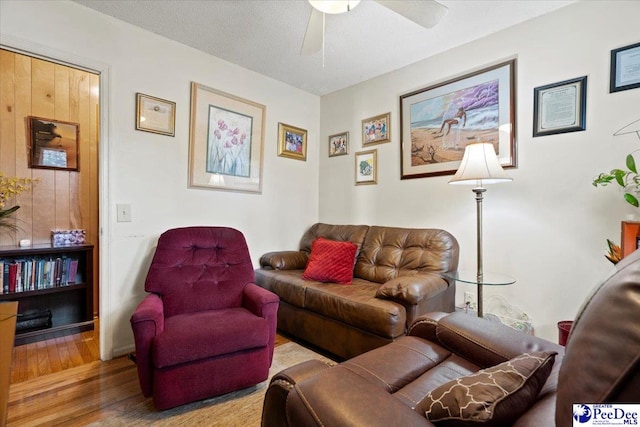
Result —
<instances>
[{"instance_id":1,"label":"hardwood floor left of the burgundy recliner, below the bookcase","mask_svg":"<svg viewBox=\"0 0 640 427\"><path fill-rule=\"evenodd\" d=\"M146 400L135 364L127 356L102 362L97 350L96 357L89 360L97 338L85 334L92 333L71 336L69 347L66 339L65 343L54 339L40 345L26 344L32 346L28 350L16 348L7 427L84 426ZM278 334L275 345L289 341ZM83 357L89 361L72 366Z\"/></svg>"}]
</instances>

